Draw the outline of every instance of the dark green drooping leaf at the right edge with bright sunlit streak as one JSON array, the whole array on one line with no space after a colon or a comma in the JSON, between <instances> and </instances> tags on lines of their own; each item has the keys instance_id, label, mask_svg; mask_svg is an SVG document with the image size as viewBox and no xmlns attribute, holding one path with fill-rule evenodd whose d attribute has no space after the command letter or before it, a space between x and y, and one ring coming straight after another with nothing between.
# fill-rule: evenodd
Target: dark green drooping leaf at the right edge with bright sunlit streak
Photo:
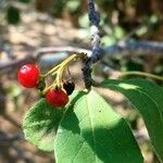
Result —
<instances>
[{"instance_id":1,"label":"dark green drooping leaf at the right edge with bright sunlit streak","mask_svg":"<svg viewBox=\"0 0 163 163\"><path fill-rule=\"evenodd\" d=\"M110 79L101 86L122 92L138 110L158 156L163 162L163 89L145 79Z\"/></svg>"}]
</instances>

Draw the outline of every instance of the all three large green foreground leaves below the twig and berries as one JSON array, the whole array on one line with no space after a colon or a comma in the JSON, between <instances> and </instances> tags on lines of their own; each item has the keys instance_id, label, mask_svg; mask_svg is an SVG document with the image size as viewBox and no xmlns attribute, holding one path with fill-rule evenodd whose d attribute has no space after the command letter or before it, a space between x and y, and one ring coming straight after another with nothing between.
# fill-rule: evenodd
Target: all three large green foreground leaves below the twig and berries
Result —
<instances>
[{"instance_id":1,"label":"all three large green foreground leaves below the twig and berries","mask_svg":"<svg viewBox=\"0 0 163 163\"><path fill-rule=\"evenodd\" d=\"M108 79L101 87L122 92L142 115L163 161L163 89L143 79ZM62 110L41 99L23 122L25 138L52 151L57 162L141 163L142 155L124 118L96 91L74 91Z\"/></svg>"}]
</instances>

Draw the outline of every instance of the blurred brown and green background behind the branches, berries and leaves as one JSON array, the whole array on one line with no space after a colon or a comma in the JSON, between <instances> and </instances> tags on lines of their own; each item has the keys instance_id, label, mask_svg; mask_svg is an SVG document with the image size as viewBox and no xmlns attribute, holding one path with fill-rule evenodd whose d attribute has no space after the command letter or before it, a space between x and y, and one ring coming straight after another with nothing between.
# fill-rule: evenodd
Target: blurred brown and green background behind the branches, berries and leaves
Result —
<instances>
[{"instance_id":1,"label":"blurred brown and green background behind the branches, berries and leaves","mask_svg":"<svg viewBox=\"0 0 163 163\"><path fill-rule=\"evenodd\" d=\"M162 0L97 0L97 9L101 18L102 47L122 41L163 41ZM41 47L90 49L87 14L86 0L0 0L0 163L54 162L53 153L42 152L23 139L23 116L39 96L35 89L25 89L17 84L16 72L22 63L16 64L16 61L34 55ZM64 51L47 53L37 64L46 72L68 54ZM139 55L120 52L104 57L95 65L93 77L97 80L116 78L116 73L110 76L110 67L117 72L142 71L162 76L163 55L143 54L142 51ZM70 67L76 89L84 88L80 68L80 63ZM98 91L128 121L146 163L159 163L143 121L130 103L120 93Z\"/></svg>"}]
</instances>

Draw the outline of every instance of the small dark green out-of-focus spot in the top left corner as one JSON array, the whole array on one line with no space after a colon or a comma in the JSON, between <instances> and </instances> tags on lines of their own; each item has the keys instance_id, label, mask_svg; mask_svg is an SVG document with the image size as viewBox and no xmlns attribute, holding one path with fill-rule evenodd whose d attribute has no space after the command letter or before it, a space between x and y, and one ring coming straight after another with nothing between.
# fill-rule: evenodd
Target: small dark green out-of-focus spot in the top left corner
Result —
<instances>
[{"instance_id":1,"label":"small dark green out-of-focus spot in the top left corner","mask_svg":"<svg viewBox=\"0 0 163 163\"><path fill-rule=\"evenodd\" d=\"M15 7L9 7L7 11L7 21L9 24L17 24L21 21L20 10Z\"/></svg>"}]
</instances>

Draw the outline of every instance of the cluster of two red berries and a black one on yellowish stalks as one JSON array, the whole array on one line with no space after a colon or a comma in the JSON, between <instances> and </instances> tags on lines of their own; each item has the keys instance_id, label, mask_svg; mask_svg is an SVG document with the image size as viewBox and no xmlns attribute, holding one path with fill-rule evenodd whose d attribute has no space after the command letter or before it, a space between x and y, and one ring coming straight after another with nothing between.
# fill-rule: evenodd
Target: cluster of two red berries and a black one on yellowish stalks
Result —
<instances>
[{"instance_id":1,"label":"cluster of two red berries and a black one on yellowish stalks","mask_svg":"<svg viewBox=\"0 0 163 163\"><path fill-rule=\"evenodd\" d=\"M60 66L58 66L60 67ZM57 84L46 88L45 77L58 70ZM26 88L38 88L45 96L47 102L54 108L62 108L68 102L68 95L75 88L73 82L63 82L63 68L55 68L46 75L40 75L40 70L34 64L26 64L17 73L18 83Z\"/></svg>"}]
</instances>

